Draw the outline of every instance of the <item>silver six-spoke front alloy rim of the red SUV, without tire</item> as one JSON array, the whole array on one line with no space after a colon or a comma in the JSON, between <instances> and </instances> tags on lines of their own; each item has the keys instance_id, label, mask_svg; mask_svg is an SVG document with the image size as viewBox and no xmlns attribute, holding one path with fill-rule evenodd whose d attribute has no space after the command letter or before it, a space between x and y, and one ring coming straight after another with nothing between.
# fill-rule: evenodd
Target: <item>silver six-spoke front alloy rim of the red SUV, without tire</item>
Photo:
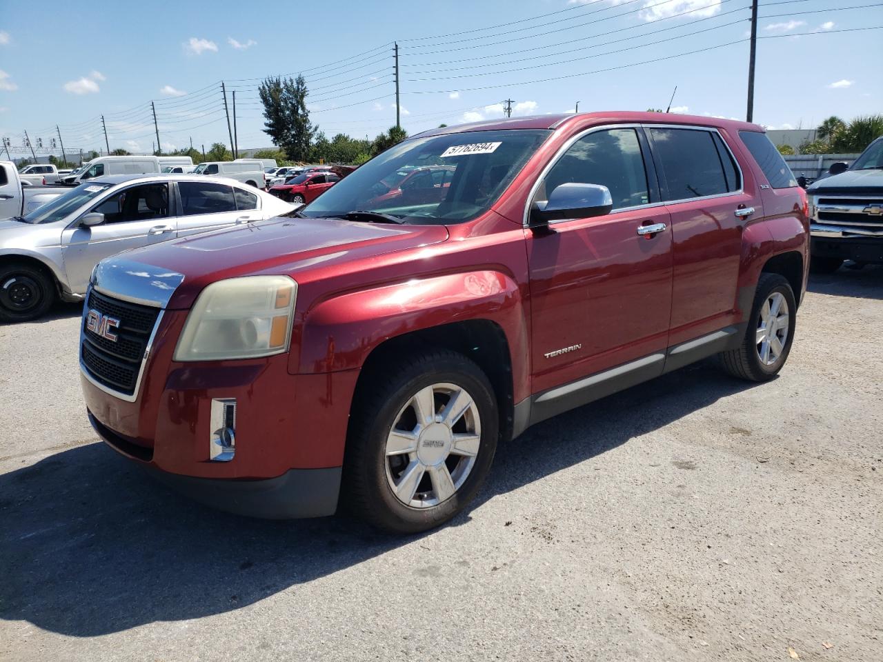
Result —
<instances>
[{"instance_id":1,"label":"silver six-spoke front alloy rim of the red SUV, without tire","mask_svg":"<svg viewBox=\"0 0 883 662\"><path fill-rule=\"evenodd\" d=\"M469 477L480 445L472 395L448 383L421 388L399 410L387 436L389 487L411 508L438 506Z\"/></svg>"}]
</instances>

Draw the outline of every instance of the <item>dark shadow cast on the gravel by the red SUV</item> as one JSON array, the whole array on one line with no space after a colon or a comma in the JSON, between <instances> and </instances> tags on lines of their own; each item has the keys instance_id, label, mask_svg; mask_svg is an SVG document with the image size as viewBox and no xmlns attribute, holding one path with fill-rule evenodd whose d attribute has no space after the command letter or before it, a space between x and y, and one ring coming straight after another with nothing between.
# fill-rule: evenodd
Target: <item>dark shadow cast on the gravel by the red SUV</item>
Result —
<instances>
[{"instance_id":1,"label":"dark shadow cast on the gravel by the red SUV","mask_svg":"<svg viewBox=\"0 0 883 662\"><path fill-rule=\"evenodd\" d=\"M704 363L537 425L498 449L470 509L748 387ZM0 514L0 618L68 636L226 613L421 538L203 508L101 443L0 476Z\"/></svg>"}]
</instances>

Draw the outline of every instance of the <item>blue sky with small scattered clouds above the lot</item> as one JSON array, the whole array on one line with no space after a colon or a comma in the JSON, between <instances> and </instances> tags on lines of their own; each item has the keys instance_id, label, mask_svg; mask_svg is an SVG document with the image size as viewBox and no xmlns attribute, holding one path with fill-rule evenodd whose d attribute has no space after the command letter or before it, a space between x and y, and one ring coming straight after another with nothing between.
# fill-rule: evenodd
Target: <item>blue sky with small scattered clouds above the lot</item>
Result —
<instances>
[{"instance_id":1,"label":"blue sky with small scattered clouds above the lot","mask_svg":"<svg viewBox=\"0 0 883 662\"><path fill-rule=\"evenodd\" d=\"M392 41L408 132L502 115L673 107L744 118L749 0L498 0L329 4L18 3L0 0L0 135L49 148L147 152L230 142L221 80L237 92L239 147L268 146L257 84L305 73L328 136L395 124ZM836 11L864 5L864 9ZM260 8L260 11L258 11ZM270 9L271 8L271 9ZM678 15L680 14L680 15ZM883 111L874 0L761 0L755 121L809 128ZM495 27L496 26L496 27ZM822 34L803 35L820 32ZM781 36L784 35L784 36ZM688 51L692 54L680 55ZM607 71L605 71L607 70ZM186 95L181 95L185 94ZM5 153L3 155L5 158Z\"/></svg>"}]
</instances>

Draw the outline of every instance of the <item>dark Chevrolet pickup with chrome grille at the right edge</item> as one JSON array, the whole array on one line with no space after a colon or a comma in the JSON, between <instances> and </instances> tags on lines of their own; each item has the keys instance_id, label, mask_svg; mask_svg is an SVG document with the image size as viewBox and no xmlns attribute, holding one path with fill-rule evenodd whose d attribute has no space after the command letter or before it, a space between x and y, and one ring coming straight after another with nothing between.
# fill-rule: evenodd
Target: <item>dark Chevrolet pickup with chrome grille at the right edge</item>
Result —
<instances>
[{"instance_id":1,"label":"dark Chevrolet pickup with chrome grille at the right edge","mask_svg":"<svg viewBox=\"0 0 883 662\"><path fill-rule=\"evenodd\" d=\"M851 166L834 163L828 172L807 190L812 272L832 274L843 260L883 264L883 138Z\"/></svg>"}]
</instances>

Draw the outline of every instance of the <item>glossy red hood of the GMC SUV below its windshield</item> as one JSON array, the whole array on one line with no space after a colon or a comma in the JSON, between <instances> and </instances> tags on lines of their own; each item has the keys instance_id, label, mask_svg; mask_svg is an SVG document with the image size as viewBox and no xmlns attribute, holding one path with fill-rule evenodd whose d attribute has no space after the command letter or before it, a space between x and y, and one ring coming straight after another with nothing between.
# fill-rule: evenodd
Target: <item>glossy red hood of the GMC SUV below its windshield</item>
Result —
<instances>
[{"instance_id":1,"label":"glossy red hood of the GMC SUV below its windshield","mask_svg":"<svg viewBox=\"0 0 883 662\"><path fill-rule=\"evenodd\" d=\"M120 257L184 275L168 307L189 308L203 288L224 278L285 274L297 280L309 269L438 244L447 238L448 229L442 225L280 217L126 251Z\"/></svg>"}]
</instances>

